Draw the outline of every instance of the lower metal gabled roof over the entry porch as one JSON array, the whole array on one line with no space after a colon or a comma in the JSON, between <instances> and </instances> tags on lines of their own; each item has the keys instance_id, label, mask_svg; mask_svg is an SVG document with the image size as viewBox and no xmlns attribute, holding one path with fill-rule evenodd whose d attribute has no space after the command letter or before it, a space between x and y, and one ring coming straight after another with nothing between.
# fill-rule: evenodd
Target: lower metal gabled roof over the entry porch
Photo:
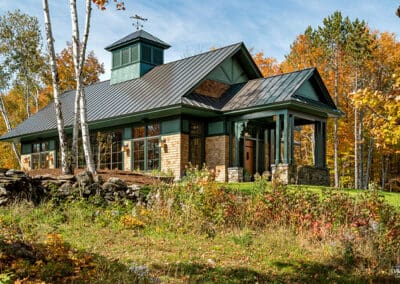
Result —
<instances>
[{"instance_id":1,"label":"lower metal gabled roof over the entry porch","mask_svg":"<svg viewBox=\"0 0 400 284\"><path fill-rule=\"evenodd\" d=\"M310 78L315 80L320 102L296 95L296 91ZM308 68L267 78L250 80L236 84L219 99L198 94L186 95L182 102L186 105L219 110L223 112L260 107L282 102L302 102L337 111L316 68Z\"/></svg>"}]
</instances>

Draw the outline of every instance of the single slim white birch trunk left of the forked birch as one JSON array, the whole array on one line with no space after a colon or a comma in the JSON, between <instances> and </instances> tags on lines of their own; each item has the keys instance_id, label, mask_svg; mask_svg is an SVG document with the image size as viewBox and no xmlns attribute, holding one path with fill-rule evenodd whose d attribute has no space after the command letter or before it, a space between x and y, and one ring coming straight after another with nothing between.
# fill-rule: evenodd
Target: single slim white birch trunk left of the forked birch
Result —
<instances>
[{"instance_id":1,"label":"single slim white birch trunk left of the forked birch","mask_svg":"<svg viewBox=\"0 0 400 284\"><path fill-rule=\"evenodd\" d=\"M50 57L50 69L51 69L51 78L53 83L54 106L57 119L58 139L60 143L61 169L63 174L70 174L72 171L67 158L67 139L64 131L64 118L61 109L61 101L59 99L60 85L59 85L59 77L57 70L56 53L54 51L54 38L51 30L49 4L47 0L43 0L42 3L43 3L46 38L47 38L47 48L49 50L49 57Z\"/></svg>"}]
</instances>

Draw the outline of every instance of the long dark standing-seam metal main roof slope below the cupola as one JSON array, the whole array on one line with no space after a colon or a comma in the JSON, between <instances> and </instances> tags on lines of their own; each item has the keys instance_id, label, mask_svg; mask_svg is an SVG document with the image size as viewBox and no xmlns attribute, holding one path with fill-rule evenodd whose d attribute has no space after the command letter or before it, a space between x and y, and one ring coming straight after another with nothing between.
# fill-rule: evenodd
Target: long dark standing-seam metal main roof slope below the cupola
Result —
<instances>
[{"instance_id":1,"label":"long dark standing-seam metal main roof slope below the cupola","mask_svg":"<svg viewBox=\"0 0 400 284\"><path fill-rule=\"evenodd\" d=\"M104 81L85 88L88 121L103 121L137 112L179 105L204 77L225 59L242 48L237 43L220 49L154 67L140 78L110 85ZM64 93L60 99L65 126L73 124L75 91ZM31 116L0 140L56 129L54 104Z\"/></svg>"}]
</instances>

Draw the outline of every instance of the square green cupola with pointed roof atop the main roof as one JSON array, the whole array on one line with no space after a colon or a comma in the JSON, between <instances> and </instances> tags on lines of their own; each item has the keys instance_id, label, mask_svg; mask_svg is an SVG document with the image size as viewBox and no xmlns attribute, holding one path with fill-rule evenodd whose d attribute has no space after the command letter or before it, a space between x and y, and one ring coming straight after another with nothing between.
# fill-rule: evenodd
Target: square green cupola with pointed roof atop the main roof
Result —
<instances>
[{"instance_id":1,"label":"square green cupola with pointed roof atop the main roof","mask_svg":"<svg viewBox=\"0 0 400 284\"><path fill-rule=\"evenodd\" d=\"M107 46L112 54L111 84L143 76L154 66L164 64L164 49L170 45L138 30Z\"/></svg>"}]
</instances>

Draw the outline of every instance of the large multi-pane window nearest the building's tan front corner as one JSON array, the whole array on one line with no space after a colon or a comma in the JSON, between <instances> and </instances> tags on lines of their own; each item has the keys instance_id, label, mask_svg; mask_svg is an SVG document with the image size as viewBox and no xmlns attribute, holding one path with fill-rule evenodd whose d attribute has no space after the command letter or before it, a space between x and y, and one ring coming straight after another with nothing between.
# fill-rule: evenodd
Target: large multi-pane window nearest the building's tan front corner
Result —
<instances>
[{"instance_id":1,"label":"large multi-pane window nearest the building's tan front corner","mask_svg":"<svg viewBox=\"0 0 400 284\"><path fill-rule=\"evenodd\" d=\"M132 129L133 168L154 170L160 168L160 124L152 123Z\"/></svg>"}]
</instances>

